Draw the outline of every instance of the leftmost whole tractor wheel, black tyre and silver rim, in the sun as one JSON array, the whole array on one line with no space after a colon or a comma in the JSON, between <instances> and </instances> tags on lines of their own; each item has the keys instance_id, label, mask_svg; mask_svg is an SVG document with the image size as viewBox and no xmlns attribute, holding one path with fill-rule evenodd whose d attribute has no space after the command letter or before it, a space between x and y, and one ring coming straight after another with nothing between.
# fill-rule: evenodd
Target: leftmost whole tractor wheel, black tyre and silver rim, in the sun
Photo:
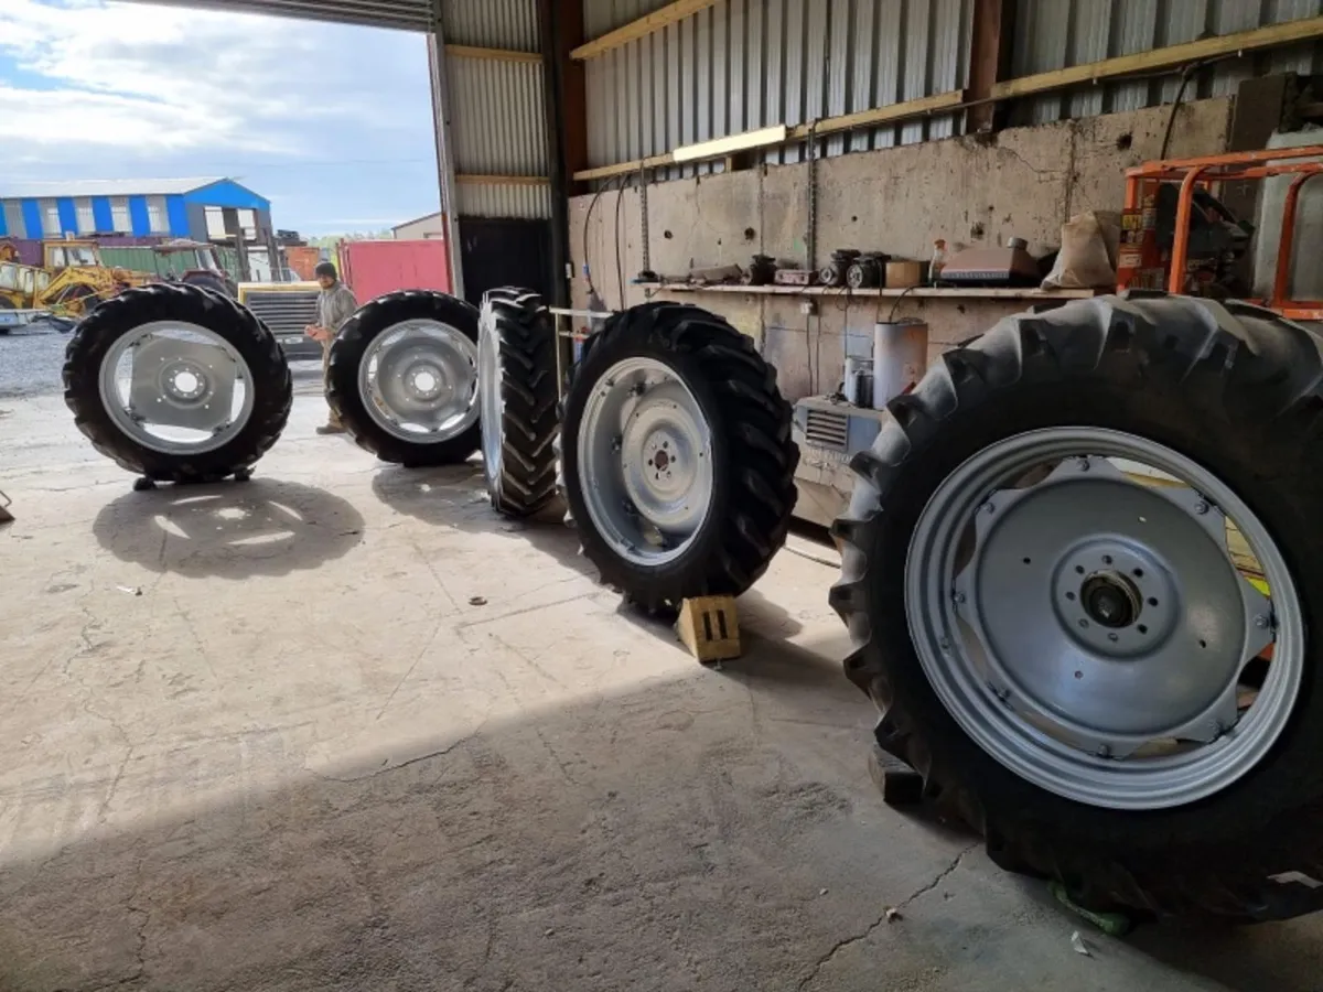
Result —
<instances>
[{"instance_id":1,"label":"leftmost whole tractor wheel, black tyre and silver rim, in the sun","mask_svg":"<svg viewBox=\"0 0 1323 992\"><path fill-rule=\"evenodd\" d=\"M93 446L159 481L246 472L280 436L294 397L270 331L188 286L106 300L65 353L65 402Z\"/></svg>"}]
</instances>

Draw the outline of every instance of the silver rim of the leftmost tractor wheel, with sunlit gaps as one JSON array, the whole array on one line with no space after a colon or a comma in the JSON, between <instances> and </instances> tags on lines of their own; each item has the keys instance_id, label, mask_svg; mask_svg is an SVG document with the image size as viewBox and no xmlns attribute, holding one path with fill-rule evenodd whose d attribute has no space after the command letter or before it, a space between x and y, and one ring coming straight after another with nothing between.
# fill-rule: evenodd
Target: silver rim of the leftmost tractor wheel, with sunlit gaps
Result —
<instances>
[{"instance_id":1,"label":"silver rim of the leftmost tractor wheel, with sunlit gaps","mask_svg":"<svg viewBox=\"0 0 1323 992\"><path fill-rule=\"evenodd\" d=\"M123 335L101 364L101 402L148 451L200 455L233 440L253 415L253 374L214 331L156 320Z\"/></svg>"}]
</instances>

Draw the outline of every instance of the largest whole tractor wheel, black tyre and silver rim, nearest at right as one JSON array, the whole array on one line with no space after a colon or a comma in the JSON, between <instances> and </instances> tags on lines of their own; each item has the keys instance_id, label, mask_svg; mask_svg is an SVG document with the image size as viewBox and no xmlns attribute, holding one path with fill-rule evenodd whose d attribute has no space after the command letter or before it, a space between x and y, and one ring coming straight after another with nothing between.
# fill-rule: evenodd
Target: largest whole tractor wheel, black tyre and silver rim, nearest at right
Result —
<instances>
[{"instance_id":1,"label":"largest whole tractor wheel, black tyre and silver rim, nearest at right","mask_svg":"<svg viewBox=\"0 0 1323 992\"><path fill-rule=\"evenodd\" d=\"M878 743L1086 903L1323 906L1323 361L1245 304L1003 320L872 451L832 603Z\"/></svg>"}]
</instances>

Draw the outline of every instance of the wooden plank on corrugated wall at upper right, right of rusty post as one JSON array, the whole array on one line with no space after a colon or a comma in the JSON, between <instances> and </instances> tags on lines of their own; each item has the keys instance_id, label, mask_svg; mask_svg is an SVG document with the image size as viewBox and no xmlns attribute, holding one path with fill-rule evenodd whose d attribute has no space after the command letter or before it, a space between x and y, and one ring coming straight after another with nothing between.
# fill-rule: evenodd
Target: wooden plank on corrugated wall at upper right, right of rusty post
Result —
<instances>
[{"instance_id":1,"label":"wooden plank on corrugated wall at upper right, right of rusty post","mask_svg":"<svg viewBox=\"0 0 1323 992\"><path fill-rule=\"evenodd\" d=\"M1078 86L1080 83L1110 79L1118 75L1175 69L1187 62L1230 56L1237 52L1291 45L1314 38L1323 38L1323 17L1304 17L1298 21L1273 24L1267 28L1221 34L1213 38L1200 38L1199 41L1188 41L1183 45L1170 45L1154 49L1152 52L1136 52L1132 56L1105 58L1099 62L1070 66L1069 69L1054 69L1050 73L1023 75L1019 79L995 83L990 95L995 99L1012 99L1015 97L1027 97L1035 93Z\"/></svg>"}]
</instances>

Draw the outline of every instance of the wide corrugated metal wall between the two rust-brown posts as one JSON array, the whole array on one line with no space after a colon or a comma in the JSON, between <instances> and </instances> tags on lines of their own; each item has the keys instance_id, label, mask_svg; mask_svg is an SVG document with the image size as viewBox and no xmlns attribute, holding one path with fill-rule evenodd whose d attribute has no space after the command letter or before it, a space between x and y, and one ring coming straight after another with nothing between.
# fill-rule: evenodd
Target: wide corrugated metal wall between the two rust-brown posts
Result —
<instances>
[{"instance_id":1,"label":"wide corrugated metal wall between the two rust-brown posts","mask_svg":"<svg viewBox=\"0 0 1323 992\"><path fill-rule=\"evenodd\" d=\"M586 32L595 37L659 5L585 0ZM963 89L972 15L974 0L720 0L589 60L589 157L609 165ZM945 138L958 124L953 114L836 135L826 153Z\"/></svg>"}]
</instances>

